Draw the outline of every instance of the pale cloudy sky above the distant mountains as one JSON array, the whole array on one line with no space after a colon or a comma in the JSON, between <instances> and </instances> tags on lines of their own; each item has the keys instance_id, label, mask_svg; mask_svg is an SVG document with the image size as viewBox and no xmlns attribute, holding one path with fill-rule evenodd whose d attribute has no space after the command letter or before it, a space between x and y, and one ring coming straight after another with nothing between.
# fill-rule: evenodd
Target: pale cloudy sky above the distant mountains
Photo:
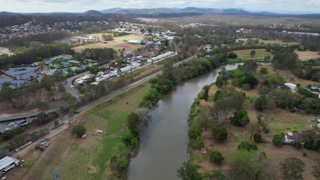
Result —
<instances>
[{"instance_id":1,"label":"pale cloudy sky above the distant mountains","mask_svg":"<svg viewBox=\"0 0 320 180\"><path fill-rule=\"evenodd\" d=\"M0 0L0 12L85 12L112 7L237 7L250 11L320 13L320 0Z\"/></svg>"}]
</instances>

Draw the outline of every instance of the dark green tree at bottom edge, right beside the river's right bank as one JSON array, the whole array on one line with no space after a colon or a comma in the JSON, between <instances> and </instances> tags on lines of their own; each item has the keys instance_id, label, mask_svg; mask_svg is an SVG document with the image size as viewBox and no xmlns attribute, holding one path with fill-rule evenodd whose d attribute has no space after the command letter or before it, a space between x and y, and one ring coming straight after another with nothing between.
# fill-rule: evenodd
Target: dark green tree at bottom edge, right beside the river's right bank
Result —
<instances>
[{"instance_id":1,"label":"dark green tree at bottom edge, right beside the river's right bank","mask_svg":"<svg viewBox=\"0 0 320 180\"><path fill-rule=\"evenodd\" d=\"M201 176L198 173L200 166L189 162L183 162L183 166L178 168L178 178L182 180L200 180Z\"/></svg>"}]
</instances>

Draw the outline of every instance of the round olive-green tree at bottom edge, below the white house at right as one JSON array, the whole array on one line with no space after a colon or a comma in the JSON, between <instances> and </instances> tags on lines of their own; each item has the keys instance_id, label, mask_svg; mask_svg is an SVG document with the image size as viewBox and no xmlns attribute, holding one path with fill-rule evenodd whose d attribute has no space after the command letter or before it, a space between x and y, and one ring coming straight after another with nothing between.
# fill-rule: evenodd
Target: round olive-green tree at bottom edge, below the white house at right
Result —
<instances>
[{"instance_id":1,"label":"round olive-green tree at bottom edge, below the white house at right","mask_svg":"<svg viewBox=\"0 0 320 180\"><path fill-rule=\"evenodd\" d=\"M280 162L280 172L284 180L302 180L306 164L297 157L290 157Z\"/></svg>"}]
</instances>

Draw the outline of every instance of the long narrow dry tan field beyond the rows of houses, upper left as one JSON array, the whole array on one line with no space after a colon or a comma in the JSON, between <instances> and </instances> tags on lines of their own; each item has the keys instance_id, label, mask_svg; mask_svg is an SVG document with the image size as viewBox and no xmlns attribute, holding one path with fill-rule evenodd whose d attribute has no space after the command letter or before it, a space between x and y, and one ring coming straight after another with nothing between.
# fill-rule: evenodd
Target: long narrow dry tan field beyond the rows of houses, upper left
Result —
<instances>
[{"instance_id":1,"label":"long narrow dry tan field beyond the rows of houses, upper left","mask_svg":"<svg viewBox=\"0 0 320 180\"><path fill-rule=\"evenodd\" d=\"M125 52L130 50L137 50L137 48L141 48L142 45L135 45L135 44L118 44L115 42L108 42L108 43L94 43L94 44L86 44L83 46L77 46L75 48L72 48L73 50L77 52L82 52L86 48L113 48L114 50L122 49L124 48Z\"/></svg>"}]
</instances>

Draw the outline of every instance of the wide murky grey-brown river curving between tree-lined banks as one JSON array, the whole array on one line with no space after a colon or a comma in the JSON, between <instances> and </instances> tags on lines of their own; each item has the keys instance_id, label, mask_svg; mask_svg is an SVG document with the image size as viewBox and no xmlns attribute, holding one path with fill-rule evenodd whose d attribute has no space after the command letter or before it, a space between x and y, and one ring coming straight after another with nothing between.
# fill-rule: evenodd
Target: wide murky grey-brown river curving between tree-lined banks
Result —
<instances>
[{"instance_id":1,"label":"wide murky grey-brown river curving between tree-lined banks","mask_svg":"<svg viewBox=\"0 0 320 180\"><path fill-rule=\"evenodd\" d=\"M235 70L239 64L222 67ZM178 179L176 170L188 157L187 120L191 104L204 85L215 82L222 67L182 82L163 95L158 106L150 112L150 126L141 132L139 153L131 159L129 166L129 180Z\"/></svg>"}]
</instances>

